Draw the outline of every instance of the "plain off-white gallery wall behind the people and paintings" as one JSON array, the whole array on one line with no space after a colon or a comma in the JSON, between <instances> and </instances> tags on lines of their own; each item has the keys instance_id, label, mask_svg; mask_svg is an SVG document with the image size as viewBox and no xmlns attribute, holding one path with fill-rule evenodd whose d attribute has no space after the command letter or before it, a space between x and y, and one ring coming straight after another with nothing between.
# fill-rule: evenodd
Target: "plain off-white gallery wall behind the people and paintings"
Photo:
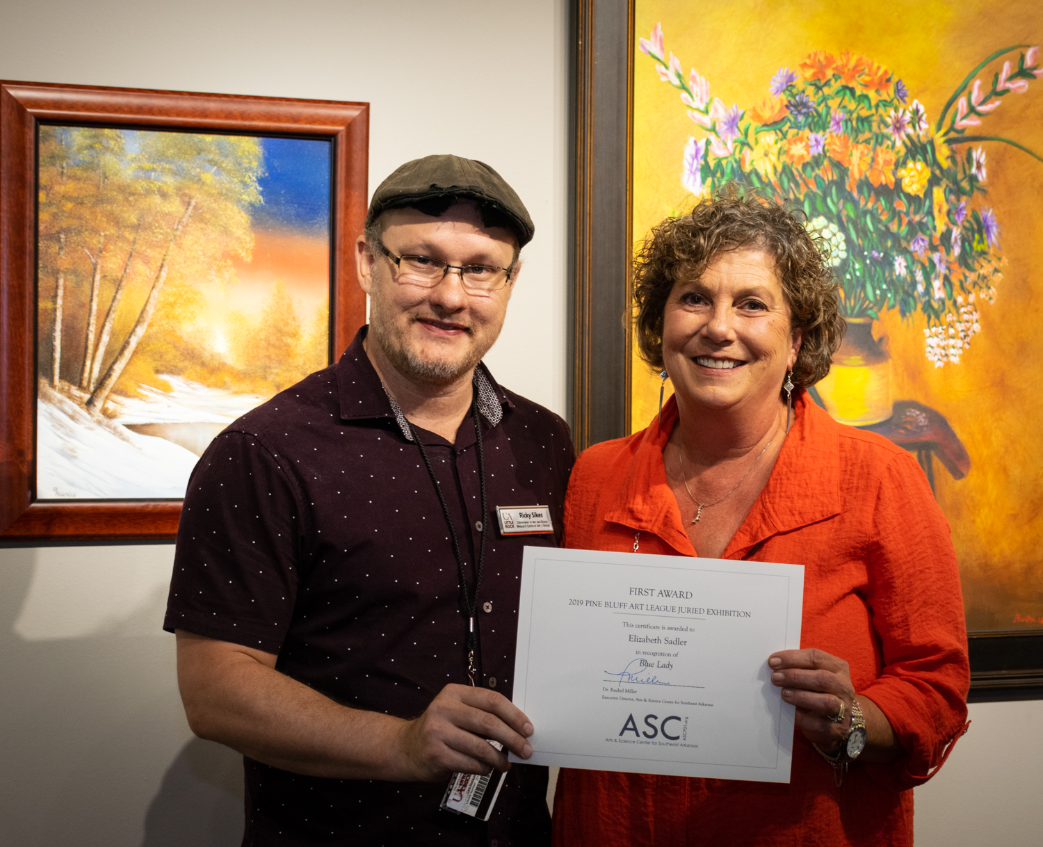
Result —
<instances>
[{"instance_id":1,"label":"plain off-white gallery wall behind the people and paintings","mask_svg":"<svg viewBox=\"0 0 1043 847\"><path fill-rule=\"evenodd\" d=\"M488 360L564 412L566 15L565 0L0 0L0 78L366 100L370 190L431 152L488 162L537 231ZM193 740L160 629L172 555L0 549L0 843L238 844L238 758ZM918 843L1038 839L1043 703L971 718L917 792Z\"/></svg>"}]
</instances>

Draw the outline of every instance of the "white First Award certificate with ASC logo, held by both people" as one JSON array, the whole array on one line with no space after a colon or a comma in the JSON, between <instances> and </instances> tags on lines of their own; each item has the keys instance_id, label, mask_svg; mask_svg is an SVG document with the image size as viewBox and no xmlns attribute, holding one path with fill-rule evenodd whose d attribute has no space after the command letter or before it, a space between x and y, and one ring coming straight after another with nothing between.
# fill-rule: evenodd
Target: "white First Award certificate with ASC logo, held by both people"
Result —
<instances>
[{"instance_id":1,"label":"white First Award certificate with ASC logo, held by both people","mask_svg":"<svg viewBox=\"0 0 1043 847\"><path fill-rule=\"evenodd\" d=\"M530 765L789 782L795 564L527 547L514 703ZM510 756L512 761L522 761Z\"/></svg>"}]
</instances>

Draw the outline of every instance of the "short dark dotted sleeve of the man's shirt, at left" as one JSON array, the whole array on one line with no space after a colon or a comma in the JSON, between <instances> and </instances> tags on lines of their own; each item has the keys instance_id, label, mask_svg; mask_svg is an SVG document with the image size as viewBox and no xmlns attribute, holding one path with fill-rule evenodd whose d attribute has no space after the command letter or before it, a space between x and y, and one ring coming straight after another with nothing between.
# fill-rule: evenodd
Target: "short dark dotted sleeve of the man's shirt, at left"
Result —
<instances>
[{"instance_id":1,"label":"short dark dotted sleeve of the man's shirt, at left","mask_svg":"<svg viewBox=\"0 0 1043 847\"><path fill-rule=\"evenodd\" d=\"M280 457L214 439L189 480L163 628L277 654L293 616L305 510Z\"/></svg>"}]
</instances>

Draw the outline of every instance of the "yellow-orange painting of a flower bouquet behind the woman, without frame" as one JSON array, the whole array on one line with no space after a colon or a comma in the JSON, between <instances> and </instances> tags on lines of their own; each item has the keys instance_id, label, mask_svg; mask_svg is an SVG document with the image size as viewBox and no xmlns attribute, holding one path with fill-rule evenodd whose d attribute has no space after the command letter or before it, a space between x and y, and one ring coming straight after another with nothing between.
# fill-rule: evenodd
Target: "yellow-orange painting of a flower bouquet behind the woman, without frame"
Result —
<instances>
[{"instance_id":1,"label":"yellow-orange painting of a flower bouquet behind the woman, without frame","mask_svg":"<svg viewBox=\"0 0 1043 847\"><path fill-rule=\"evenodd\" d=\"M1008 464L1032 454L1024 383L1043 376L1039 333L1009 311L1043 286L1043 16L1016 3L1004 30L979 4L892 3L889 32L864 10L779 6L751 52L755 6L637 4L635 240L729 184L799 208L848 322L812 397L917 455L953 526L972 629L1043 625L1043 460Z\"/></svg>"}]
</instances>

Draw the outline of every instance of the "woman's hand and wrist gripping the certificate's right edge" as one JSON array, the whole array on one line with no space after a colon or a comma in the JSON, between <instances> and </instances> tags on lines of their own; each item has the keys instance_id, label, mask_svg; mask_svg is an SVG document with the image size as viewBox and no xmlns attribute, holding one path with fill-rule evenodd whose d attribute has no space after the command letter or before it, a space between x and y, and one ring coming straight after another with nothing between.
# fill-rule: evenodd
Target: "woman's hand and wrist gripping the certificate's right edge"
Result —
<instances>
[{"instance_id":1,"label":"woman's hand and wrist gripping the certificate's right edge","mask_svg":"<svg viewBox=\"0 0 1043 847\"><path fill-rule=\"evenodd\" d=\"M782 688L782 699L797 707L796 725L812 744L834 754L851 729L854 685L848 663L823 650L780 650L768 657L772 684ZM891 722L865 695L857 697L866 720L866 761L894 761L904 754ZM844 720L833 723L844 704Z\"/></svg>"}]
</instances>

